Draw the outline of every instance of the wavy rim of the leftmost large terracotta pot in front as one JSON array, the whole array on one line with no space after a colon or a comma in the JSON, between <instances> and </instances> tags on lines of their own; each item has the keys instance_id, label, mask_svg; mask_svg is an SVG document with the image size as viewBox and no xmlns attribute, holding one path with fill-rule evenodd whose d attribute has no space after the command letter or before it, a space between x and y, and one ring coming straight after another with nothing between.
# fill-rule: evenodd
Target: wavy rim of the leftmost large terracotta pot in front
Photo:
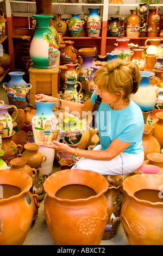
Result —
<instances>
[{"instance_id":1,"label":"wavy rim of the leftmost large terracotta pot in front","mask_svg":"<svg viewBox=\"0 0 163 256\"><path fill-rule=\"evenodd\" d=\"M15 183L15 180L13 181L11 174L13 174L14 176L15 175L17 176L17 179L16 179L17 183ZM2 181L2 183L0 183L0 185L7 184L7 185L12 185L12 186L17 186L21 189L21 192L12 197L1 198L0 205L10 202L10 200L17 199L17 198L21 197L23 194L29 192L30 187L32 187L32 178L27 173L18 172L18 170L0 170L0 177L4 177L5 175L8 175L7 181L6 182ZM24 185L22 185L23 177L24 177L24 180L26 180ZM5 178L2 178L2 179L5 179ZM0 181L1 181L1 179L0 179ZM29 182L27 182L27 181L29 181Z\"/></svg>"}]
</instances>

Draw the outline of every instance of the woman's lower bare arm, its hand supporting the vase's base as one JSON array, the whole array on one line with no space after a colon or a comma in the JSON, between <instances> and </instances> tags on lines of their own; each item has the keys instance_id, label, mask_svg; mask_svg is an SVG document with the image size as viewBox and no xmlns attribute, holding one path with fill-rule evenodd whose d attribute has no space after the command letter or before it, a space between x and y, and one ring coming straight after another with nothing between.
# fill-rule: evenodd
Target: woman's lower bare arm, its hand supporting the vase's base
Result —
<instances>
[{"instance_id":1,"label":"woman's lower bare arm, its hand supporting the vase's base","mask_svg":"<svg viewBox=\"0 0 163 256\"><path fill-rule=\"evenodd\" d=\"M106 150L99 151L79 149L78 154L79 156L85 157L87 159L108 161L114 159L114 157L122 153L129 146L129 144L130 143L120 141L119 139L116 138L114 139L114 141L111 142L111 144ZM53 141L52 145L45 145L45 147L61 150L71 155L74 155L76 151L76 149L69 147L67 144L59 143L57 141Z\"/></svg>"}]
</instances>

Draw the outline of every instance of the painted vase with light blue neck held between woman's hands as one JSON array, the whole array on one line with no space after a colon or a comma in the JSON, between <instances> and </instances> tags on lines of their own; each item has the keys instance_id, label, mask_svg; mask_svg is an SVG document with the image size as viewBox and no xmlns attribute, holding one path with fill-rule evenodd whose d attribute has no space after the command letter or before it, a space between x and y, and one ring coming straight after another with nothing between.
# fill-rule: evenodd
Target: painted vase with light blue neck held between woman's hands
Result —
<instances>
[{"instance_id":1,"label":"painted vase with light blue neck held between woman's hands","mask_svg":"<svg viewBox=\"0 0 163 256\"><path fill-rule=\"evenodd\" d=\"M36 113L32 118L32 129L35 143L37 145L51 144L54 131L57 126L57 119L53 114L53 102L35 102Z\"/></svg>"}]
</instances>

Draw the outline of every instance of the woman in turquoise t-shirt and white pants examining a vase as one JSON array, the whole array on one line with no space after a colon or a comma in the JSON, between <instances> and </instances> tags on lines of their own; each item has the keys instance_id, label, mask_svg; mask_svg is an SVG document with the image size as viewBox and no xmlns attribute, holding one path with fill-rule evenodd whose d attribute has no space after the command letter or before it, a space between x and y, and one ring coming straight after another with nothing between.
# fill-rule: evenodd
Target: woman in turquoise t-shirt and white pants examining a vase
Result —
<instances>
[{"instance_id":1,"label":"woman in turquoise t-shirt and white pants examining a vase","mask_svg":"<svg viewBox=\"0 0 163 256\"><path fill-rule=\"evenodd\" d=\"M75 156L81 156L73 168L86 169L102 175L127 175L141 166L144 160L142 111L130 98L137 92L141 76L138 66L130 60L115 59L96 71L93 81L97 86L91 99L84 104L61 100L62 109L70 113L77 109L92 111L97 95L102 98L96 111L99 142L93 150L74 149L65 143L53 141L48 147ZM44 94L36 95L37 101L58 99Z\"/></svg>"}]
</instances>

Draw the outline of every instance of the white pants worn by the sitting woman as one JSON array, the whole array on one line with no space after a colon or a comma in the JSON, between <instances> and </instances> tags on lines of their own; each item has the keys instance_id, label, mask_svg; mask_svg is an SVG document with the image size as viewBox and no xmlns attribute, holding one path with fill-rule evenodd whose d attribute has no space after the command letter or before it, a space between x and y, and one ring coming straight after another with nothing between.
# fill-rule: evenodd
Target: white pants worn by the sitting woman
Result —
<instances>
[{"instance_id":1,"label":"white pants worn by the sitting woman","mask_svg":"<svg viewBox=\"0 0 163 256\"><path fill-rule=\"evenodd\" d=\"M101 145L97 145L93 150L102 150ZM144 153L128 154L121 153L110 161L80 159L72 169L92 170L101 175L127 175L135 172L144 160Z\"/></svg>"}]
</instances>

